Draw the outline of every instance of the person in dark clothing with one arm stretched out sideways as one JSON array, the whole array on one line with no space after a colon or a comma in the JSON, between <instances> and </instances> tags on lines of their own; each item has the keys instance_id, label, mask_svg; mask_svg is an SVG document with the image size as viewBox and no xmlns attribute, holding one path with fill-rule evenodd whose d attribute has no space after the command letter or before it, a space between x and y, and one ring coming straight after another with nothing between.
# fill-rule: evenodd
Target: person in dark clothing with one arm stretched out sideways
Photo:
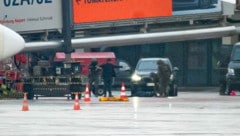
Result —
<instances>
[{"instance_id":1,"label":"person in dark clothing with one arm stretched out sideways","mask_svg":"<svg viewBox=\"0 0 240 136\"><path fill-rule=\"evenodd\" d=\"M100 65L102 68L102 78L104 82L104 97L107 96L107 91L109 97L113 97L112 95L112 83L113 78L116 77L115 68L122 68L122 66L117 66L111 63L111 59L108 58L105 64Z\"/></svg>"}]
</instances>

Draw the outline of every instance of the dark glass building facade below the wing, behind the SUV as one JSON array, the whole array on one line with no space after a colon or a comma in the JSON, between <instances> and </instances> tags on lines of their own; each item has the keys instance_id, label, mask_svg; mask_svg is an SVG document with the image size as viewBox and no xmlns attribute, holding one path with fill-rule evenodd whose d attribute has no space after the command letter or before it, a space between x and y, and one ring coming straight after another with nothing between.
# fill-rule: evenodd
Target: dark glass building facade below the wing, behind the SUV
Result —
<instances>
[{"instance_id":1,"label":"dark glass building facade below the wing, behind the SUV","mask_svg":"<svg viewBox=\"0 0 240 136\"><path fill-rule=\"evenodd\" d=\"M232 45L222 45L222 39L205 39L114 47L118 58L134 68L142 57L168 57L178 67L179 86L218 86L218 63L228 61Z\"/></svg>"}]
</instances>

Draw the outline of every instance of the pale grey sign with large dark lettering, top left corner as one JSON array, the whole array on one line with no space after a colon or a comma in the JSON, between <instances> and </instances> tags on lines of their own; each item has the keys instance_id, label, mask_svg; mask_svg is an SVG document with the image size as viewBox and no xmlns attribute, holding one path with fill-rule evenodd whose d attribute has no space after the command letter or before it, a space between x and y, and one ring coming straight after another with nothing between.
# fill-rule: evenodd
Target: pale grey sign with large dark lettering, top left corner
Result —
<instances>
[{"instance_id":1,"label":"pale grey sign with large dark lettering, top left corner","mask_svg":"<svg viewBox=\"0 0 240 136\"><path fill-rule=\"evenodd\" d=\"M0 0L0 24L14 31L60 30L62 0Z\"/></svg>"}]
</instances>

